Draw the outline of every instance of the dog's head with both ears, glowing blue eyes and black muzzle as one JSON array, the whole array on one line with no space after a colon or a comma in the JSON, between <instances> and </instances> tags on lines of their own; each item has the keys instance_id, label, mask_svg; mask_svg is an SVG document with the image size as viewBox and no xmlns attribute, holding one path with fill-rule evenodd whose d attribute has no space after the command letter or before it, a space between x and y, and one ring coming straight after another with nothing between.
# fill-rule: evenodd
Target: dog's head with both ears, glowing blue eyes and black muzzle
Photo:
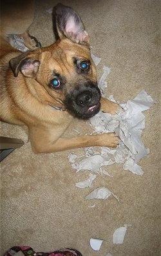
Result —
<instances>
[{"instance_id":1,"label":"dog's head with both ears, glowing blue eyes and black muzzle","mask_svg":"<svg viewBox=\"0 0 161 256\"><path fill-rule=\"evenodd\" d=\"M77 117L91 117L100 110L100 90L89 36L73 9L59 4L53 10L57 41L11 59L10 67L15 76L20 71L43 86L53 107L62 103Z\"/></svg>"}]
</instances>

